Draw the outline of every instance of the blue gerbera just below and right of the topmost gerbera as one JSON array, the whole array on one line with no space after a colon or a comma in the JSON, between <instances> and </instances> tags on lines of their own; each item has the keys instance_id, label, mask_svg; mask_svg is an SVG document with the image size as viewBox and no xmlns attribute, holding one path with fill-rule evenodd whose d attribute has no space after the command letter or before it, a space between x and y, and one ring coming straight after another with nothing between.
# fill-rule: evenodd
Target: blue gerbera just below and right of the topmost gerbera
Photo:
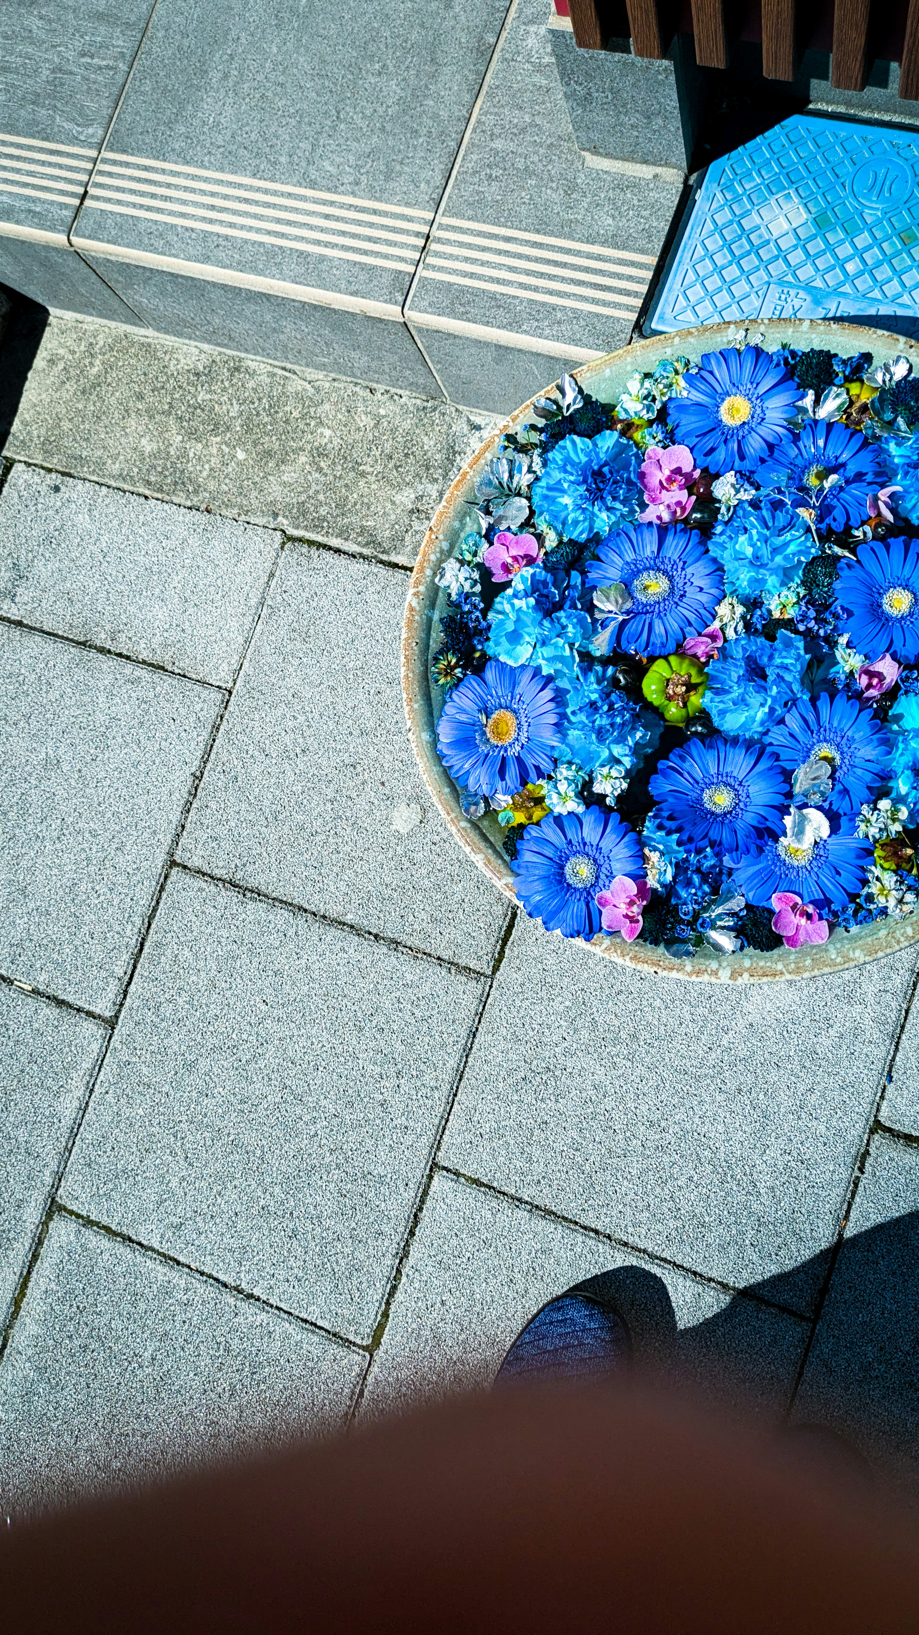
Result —
<instances>
[{"instance_id":1,"label":"blue gerbera just below and right of the topmost gerbera","mask_svg":"<svg viewBox=\"0 0 919 1635\"><path fill-rule=\"evenodd\" d=\"M888 482L876 443L841 420L808 420L757 471L762 487L777 487L796 505L816 510L827 528L855 528L868 515L868 494Z\"/></svg>"}]
</instances>

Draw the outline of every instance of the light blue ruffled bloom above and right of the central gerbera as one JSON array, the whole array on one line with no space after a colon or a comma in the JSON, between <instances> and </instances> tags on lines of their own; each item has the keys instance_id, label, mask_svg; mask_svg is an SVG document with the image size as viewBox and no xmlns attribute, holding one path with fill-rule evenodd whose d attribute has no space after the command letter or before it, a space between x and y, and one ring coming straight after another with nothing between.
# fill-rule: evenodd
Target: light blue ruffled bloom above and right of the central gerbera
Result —
<instances>
[{"instance_id":1,"label":"light blue ruffled bloom above and right of the central gerbera","mask_svg":"<svg viewBox=\"0 0 919 1635\"><path fill-rule=\"evenodd\" d=\"M816 544L806 522L787 500L757 494L715 526L708 549L724 567L724 585L733 595L741 600L760 595L769 602L798 577Z\"/></svg>"}]
</instances>

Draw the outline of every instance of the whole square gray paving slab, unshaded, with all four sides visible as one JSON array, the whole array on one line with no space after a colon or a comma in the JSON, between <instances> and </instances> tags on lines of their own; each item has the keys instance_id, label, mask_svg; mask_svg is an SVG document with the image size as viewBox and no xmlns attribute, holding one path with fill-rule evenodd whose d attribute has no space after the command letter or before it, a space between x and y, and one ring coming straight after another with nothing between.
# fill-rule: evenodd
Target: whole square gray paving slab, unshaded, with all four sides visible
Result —
<instances>
[{"instance_id":1,"label":"whole square gray paving slab, unshaded, with all four sides visible","mask_svg":"<svg viewBox=\"0 0 919 1635\"><path fill-rule=\"evenodd\" d=\"M61 1197L366 1341L479 996L177 871Z\"/></svg>"}]
</instances>

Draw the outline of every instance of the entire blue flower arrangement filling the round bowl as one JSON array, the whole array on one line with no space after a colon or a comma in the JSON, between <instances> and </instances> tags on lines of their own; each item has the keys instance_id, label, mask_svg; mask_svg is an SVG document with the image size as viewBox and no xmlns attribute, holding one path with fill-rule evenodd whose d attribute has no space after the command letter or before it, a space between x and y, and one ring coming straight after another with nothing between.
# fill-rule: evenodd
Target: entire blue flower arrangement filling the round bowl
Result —
<instances>
[{"instance_id":1,"label":"entire blue flower arrangement filling the round bowl","mask_svg":"<svg viewBox=\"0 0 919 1635\"><path fill-rule=\"evenodd\" d=\"M741 337L615 404L563 376L474 515L437 744L546 930L729 958L919 909L906 358Z\"/></svg>"}]
</instances>

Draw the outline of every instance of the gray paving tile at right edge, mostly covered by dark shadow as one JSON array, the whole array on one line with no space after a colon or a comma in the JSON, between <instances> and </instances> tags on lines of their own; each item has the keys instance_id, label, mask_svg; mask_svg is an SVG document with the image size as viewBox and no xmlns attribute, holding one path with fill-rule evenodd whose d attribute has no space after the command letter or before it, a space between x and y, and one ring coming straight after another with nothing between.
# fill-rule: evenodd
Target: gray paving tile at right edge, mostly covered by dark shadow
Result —
<instances>
[{"instance_id":1,"label":"gray paving tile at right edge, mostly covered by dark shadow","mask_svg":"<svg viewBox=\"0 0 919 1635\"><path fill-rule=\"evenodd\" d=\"M919 1506L919 1146L875 1135L795 1418L829 1424Z\"/></svg>"}]
</instances>

